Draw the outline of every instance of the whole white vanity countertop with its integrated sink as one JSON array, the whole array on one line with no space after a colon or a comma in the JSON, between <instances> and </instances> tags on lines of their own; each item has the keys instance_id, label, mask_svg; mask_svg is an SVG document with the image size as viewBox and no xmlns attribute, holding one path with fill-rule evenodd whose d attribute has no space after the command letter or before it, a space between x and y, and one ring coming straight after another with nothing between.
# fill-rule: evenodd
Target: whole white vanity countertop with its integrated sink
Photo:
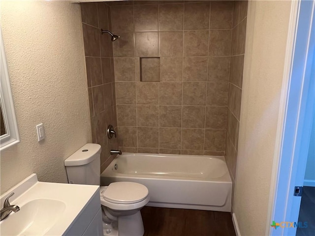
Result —
<instances>
[{"instance_id":1,"label":"whole white vanity countertop with its integrated sink","mask_svg":"<svg viewBox=\"0 0 315 236\"><path fill-rule=\"evenodd\" d=\"M12 192L9 203L20 210L0 221L1 236L82 235L100 211L97 185L40 182L32 174L0 196L1 208Z\"/></svg>"}]
</instances>

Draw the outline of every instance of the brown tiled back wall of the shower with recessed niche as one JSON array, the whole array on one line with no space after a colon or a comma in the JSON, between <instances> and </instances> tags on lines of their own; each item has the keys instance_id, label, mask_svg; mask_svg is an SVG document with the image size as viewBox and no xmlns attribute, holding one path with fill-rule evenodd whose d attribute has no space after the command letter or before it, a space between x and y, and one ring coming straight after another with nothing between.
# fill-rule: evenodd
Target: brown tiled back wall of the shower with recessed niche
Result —
<instances>
[{"instance_id":1,"label":"brown tiled back wall of the shower with recessed niche","mask_svg":"<svg viewBox=\"0 0 315 236\"><path fill-rule=\"evenodd\" d=\"M224 155L234 2L178 2L110 3L119 146ZM145 57L160 82L140 82Z\"/></svg>"}]
</instances>

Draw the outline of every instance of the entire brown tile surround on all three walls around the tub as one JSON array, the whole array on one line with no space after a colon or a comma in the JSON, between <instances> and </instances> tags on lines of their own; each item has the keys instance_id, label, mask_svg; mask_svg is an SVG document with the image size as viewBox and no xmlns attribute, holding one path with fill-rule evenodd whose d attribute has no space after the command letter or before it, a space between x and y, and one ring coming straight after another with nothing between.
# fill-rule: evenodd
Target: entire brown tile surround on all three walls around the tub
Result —
<instances>
[{"instance_id":1,"label":"entire brown tile surround on all three walls around the tub","mask_svg":"<svg viewBox=\"0 0 315 236\"><path fill-rule=\"evenodd\" d=\"M81 8L93 142L106 152L101 169L113 158L110 148L118 148L117 139L106 137L111 123L122 151L225 154L234 181L247 1L118 1ZM100 28L120 38L111 42ZM142 71L159 82L140 81L140 58L159 58Z\"/></svg>"}]
</instances>

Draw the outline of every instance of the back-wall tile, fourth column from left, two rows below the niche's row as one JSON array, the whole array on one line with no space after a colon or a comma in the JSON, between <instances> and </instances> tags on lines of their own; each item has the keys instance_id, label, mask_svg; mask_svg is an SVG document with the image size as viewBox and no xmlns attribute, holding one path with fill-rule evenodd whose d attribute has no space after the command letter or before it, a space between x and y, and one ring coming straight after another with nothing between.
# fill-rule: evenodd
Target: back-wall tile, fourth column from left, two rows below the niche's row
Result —
<instances>
[{"instance_id":1,"label":"back-wall tile, fourth column from left, two rows below the niche's row","mask_svg":"<svg viewBox=\"0 0 315 236\"><path fill-rule=\"evenodd\" d=\"M183 106L184 128L204 128L206 107Z\"/></svg>"}]
</instances>

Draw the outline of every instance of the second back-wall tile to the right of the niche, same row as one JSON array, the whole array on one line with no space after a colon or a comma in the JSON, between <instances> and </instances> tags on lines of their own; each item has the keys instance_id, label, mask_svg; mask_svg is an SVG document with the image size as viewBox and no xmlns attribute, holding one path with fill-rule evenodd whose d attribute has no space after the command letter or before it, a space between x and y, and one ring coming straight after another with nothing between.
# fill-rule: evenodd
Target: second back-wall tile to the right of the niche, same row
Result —
<instances>
[{"instance_id":1,"label":"second back-wall tile to the right of the niche, same row","mask_svg":"<svg viewBox=\"0 0 315 236\"><path fill-rule=\"evenodd\" d=\"M184 58L184 81L207 81L208 57Z\"/></svg>"}]
</instances>

